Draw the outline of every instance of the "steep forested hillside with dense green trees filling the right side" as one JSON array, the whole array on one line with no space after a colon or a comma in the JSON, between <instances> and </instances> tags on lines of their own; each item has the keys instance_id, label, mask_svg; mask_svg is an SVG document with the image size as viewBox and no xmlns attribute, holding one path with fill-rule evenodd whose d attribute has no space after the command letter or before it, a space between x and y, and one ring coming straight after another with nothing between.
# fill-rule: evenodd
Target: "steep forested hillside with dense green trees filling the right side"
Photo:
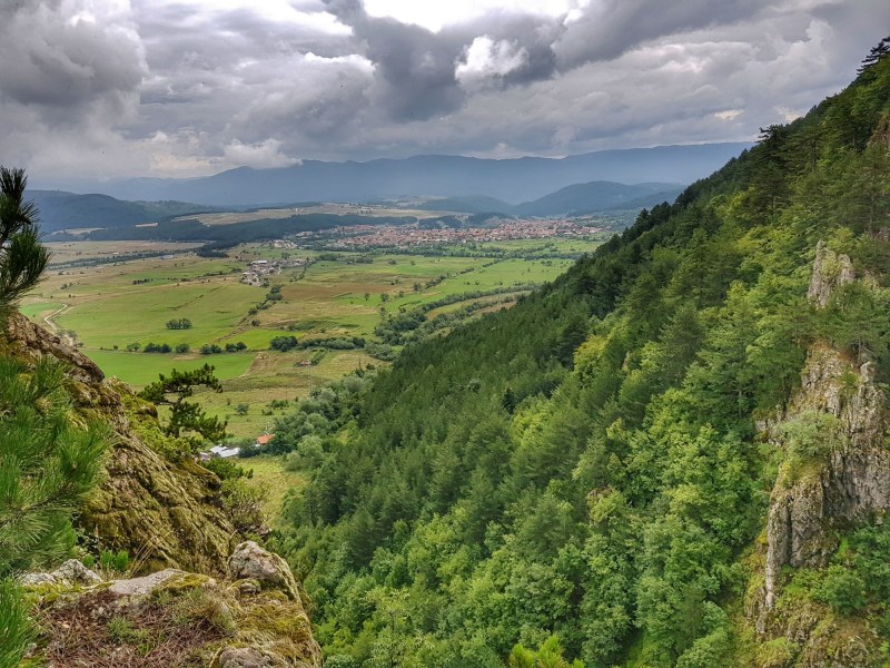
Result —
<instances>
[{"instance_id":1,"label":"steep forested hillside with dense green trees filling the right side","mask_svg":"<svg viewBox=\"0 0 890 668\"><path fill-rule=\"evenodd\" d=\"M276 540L327 666L888 659L887 46L545 289L279 425L312 481Z\"/></svg>"}]
</instances>

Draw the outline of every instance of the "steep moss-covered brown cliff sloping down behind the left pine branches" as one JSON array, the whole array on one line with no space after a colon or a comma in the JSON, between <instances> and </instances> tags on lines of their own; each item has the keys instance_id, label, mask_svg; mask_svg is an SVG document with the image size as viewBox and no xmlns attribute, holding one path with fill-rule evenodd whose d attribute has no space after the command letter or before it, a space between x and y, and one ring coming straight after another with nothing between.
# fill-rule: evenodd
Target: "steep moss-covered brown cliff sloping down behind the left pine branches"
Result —
<instances>
[{"instance_id":1,"label":"steep moss-covered brown cliff sloping down behind the left pine branches","mask_svg":"<svg viewBox=\"0 0 890 668\"><path fill-rule=\"evenodd\" d=\"M148 444L154 406L58 336L14 315L6 352L33 361L42 355L69 365L77 410L100 416L113 430L108 475L89 499L79 523L99 547L127 550L142 570L182 568L220 572L235 529L221 510L219 480L190 461L171 462Z\"/></svg>"}]
</instances>

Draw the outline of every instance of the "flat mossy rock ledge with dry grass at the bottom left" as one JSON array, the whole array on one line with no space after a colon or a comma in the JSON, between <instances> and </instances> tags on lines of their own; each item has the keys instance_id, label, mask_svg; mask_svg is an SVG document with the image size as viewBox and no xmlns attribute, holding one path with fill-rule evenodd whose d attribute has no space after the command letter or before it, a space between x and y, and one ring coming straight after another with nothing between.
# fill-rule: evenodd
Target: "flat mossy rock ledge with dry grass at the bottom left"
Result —
<instances>
[{"instance_id":1,"label":"flat mossy rock ledge with dry grass at the bottom left","mask_svg":"<svg viewBox=\"0 0 890 668\"><path fill-rule=\"evenodd\" d=\"M256 543L239 546L236 553L233 572L247 564L261 579L166 569L87 587L30 586L41 619L31 662L320 668L320 649L290 569Z\"/></svg>"}]
</instances>

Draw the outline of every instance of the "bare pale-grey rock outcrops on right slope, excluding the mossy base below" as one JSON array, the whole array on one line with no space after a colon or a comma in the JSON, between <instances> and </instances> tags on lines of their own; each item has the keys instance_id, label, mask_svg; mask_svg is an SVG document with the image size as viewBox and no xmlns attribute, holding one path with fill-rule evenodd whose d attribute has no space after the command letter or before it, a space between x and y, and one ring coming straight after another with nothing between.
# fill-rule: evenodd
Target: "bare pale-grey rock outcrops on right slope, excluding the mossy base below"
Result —
<instances>
[{"instance_id":1,"label":"bare pale-grey rock outcrops on right slope, excluding the mossy base below","mask_svg":"<svg viewBox=\"0 0 890 668\"><path fill-rule=\"evenodd\" d=\"M820 242L808 296L825 306L832 291L856 279L850 258ZM764 605L773 608L782 566L824 566L837 548L834 530L890 507L890 456L883 445L888 409L871 362L858 364L827 343L808 355L801 387L778 420L764 425L787 448L783 425L831 416L824 452L788 456L773 489L767 523ZM761 625L762 628L762 625Z\"/></svg>"}]
</instances>

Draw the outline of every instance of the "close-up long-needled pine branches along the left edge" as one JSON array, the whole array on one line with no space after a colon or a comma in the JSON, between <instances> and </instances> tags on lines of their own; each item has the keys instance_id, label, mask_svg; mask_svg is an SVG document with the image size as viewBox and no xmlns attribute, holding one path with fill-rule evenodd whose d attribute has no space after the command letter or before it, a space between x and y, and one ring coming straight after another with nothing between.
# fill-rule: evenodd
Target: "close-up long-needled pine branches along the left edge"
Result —
<instances>
[{"instance_id":1,"label":"close-up long-needled pine branches along the left edge","mask_svg":"<svg viewBox=\"0 0 890 668\"><path fill-rule=\"evenodd\" d=\"M49 262L26 184L0 167L0 332ZM0 668L18 666L32 636L14 574L70 552L71 514L102 468L106 430L73 419L65 380L51 358L28 369L0 356Z\"/></svg>"}]
</instances>

